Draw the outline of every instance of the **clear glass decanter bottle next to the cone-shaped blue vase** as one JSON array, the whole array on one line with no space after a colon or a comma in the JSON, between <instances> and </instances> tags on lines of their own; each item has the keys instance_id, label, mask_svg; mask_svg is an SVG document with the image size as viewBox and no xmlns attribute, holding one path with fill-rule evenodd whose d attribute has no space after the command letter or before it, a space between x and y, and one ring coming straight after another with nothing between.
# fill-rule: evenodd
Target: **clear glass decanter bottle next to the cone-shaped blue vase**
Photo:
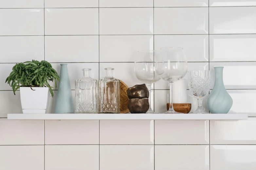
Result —
<instances>
[{"instance_id":1,"label":"clear glass decanter bottle next to the cone-shaped blue vase","mask_svg":"<svg viewBox=\"0 0 256 170\"><path fill-rule=\"evenodd\" d=\"M75 113L98 113L97 80L90 77L90 68L83 68L83 77L75 81Z\"/></svg>"}]
</instances>

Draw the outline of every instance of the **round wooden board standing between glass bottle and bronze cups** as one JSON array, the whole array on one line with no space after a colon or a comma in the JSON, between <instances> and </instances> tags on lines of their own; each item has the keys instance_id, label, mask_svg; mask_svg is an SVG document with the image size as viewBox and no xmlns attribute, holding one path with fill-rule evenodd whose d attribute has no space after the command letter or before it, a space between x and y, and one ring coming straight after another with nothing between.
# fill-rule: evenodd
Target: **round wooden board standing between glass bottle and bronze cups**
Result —
<instances>
[{"instance_id":1,"label":"round wooden board standing between glass bottle and bronze cups","mask_svg":"<svg viewBox=\"0 0 256 170\"><path fill-rule=\"evenodd\" d=\"M120 113L129 113L128 96L126 90L129 87L120 80Z\"/></svg>"}]
</instances>

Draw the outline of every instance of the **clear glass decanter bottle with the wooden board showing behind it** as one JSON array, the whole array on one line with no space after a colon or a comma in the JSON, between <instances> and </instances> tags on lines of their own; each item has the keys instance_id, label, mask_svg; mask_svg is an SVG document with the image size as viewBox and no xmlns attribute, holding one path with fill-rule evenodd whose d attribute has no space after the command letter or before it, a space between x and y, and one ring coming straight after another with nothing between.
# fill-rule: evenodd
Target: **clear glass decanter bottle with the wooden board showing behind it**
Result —
<instances>
[{"instance_id":1,"label":"clear glass decanter bottle with the wooden board showing behind it","mask_svg":"<svg viewBox=\"0 0 256 170\"><path fill-rule=\"evenodd\" d=\"M119 113L120 81L113 78L114 68L105 68L106 77L99 80L99 113Z\"/></svg>"}]
</instances>

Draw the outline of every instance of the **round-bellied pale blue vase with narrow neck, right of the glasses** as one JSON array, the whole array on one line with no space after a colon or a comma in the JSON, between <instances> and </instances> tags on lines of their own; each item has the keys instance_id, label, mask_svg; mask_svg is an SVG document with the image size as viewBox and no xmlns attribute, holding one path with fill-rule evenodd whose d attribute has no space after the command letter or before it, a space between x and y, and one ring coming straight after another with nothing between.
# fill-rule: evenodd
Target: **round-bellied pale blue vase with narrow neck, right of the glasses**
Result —
<instances>
[{"instance_id":1,"label":"round-bellied pale blue vase with narrow neck, right of the glasses","mask_svg":"<svg viewBox=\"0 0 256 170\"><path fill-rule=\"evenodd\" d=\"M233 100L223 83L223 68L214 67L214 87L206 99L207 107L211 113L228 113L233 104Z\"/></svg>"}]
</instances>

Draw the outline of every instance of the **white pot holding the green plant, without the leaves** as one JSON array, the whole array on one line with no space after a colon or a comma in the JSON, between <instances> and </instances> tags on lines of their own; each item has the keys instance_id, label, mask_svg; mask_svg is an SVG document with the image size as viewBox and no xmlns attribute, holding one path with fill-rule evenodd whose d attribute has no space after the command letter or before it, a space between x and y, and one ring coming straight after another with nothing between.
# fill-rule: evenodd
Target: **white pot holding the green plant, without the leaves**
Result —
<instances>
[{"instance_id":1,"label":"white pot holding the green plant, without the leaves","mask_svg":"<svg viewBox=\"0 0 256 170\"><path fill-rule=\"evenodd\" d=\"M23 113L47 113L50 89L48 87L21 87L20 100Z\"/></svg>"}]
</instances>

